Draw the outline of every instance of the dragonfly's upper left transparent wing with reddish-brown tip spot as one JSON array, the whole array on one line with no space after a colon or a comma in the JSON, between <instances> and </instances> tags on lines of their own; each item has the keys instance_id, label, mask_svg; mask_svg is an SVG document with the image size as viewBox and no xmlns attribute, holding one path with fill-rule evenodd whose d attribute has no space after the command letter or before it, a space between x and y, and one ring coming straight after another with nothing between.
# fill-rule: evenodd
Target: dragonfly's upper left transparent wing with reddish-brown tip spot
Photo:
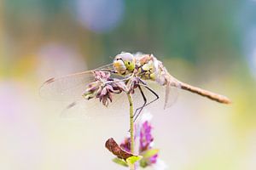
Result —
<instances>
[{"instance_id":1,"label":"dragonfly's upper left transparent wing with reddish-brown tip spot","mask_svg":"<svg viewBox=\"0 0 256 170\"><path fill-rule=\"evenodd\" d=\"M85 87L95 80L93 71L112 71L112 64L103 65L92 71L84 71L70 74L65 77L53 77L44 82L39 90L39 94L44 99L75 101L82 99Z\"/></svg>"}]
</instances>

